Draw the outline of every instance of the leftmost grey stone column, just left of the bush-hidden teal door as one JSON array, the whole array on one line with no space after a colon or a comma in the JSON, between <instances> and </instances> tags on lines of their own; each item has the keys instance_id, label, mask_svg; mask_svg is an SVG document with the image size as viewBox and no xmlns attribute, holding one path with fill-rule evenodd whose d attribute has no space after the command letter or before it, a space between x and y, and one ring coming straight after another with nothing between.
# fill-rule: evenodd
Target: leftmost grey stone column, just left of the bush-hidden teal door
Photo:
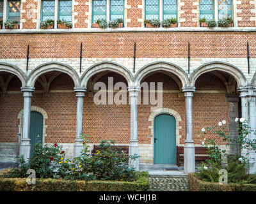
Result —
<instances>
[{"instance_id":1,"label":"leftmost grey stone column, just left of the bush-hidden teal door","mask_svg":"<svg viewBox=\"0 0 256 204\"><path fill-rule=\"evenodd\" d=\"M20 142L20 156L24 156L24 159L28 161L30 157L31 143L29 138L30 130L30 111L31 111L31 97L32 92L35 91L35 87L21 87L24 97L23 108L23 123L22 123L22 138Z\"/></svg>"}]
</instances>

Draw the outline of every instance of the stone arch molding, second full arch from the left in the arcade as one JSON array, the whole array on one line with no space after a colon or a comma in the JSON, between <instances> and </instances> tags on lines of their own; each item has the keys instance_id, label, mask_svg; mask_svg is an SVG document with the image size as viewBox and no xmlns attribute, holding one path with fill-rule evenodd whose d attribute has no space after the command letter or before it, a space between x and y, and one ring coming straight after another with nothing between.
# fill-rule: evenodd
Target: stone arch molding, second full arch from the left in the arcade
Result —
<instances>
[{"instance_id":1,"label":"stone arch molding, second full arch from the left in the arcade","mask_svg":"<svg viewBox=\"0 0 256 204\"><path fill-rule=\"evenodd\" d=\"M100 73L102 71L113 71L122 75L127 80L128 85L132 85L134 81L134 77L131 71L129 71L127 68L115 62L106 61L99 62L88 68L81 77L81 86L86 87L88 84L88 80L90 80L93 75L96 75L97 73Z\"/></svg>"}]
</instances>

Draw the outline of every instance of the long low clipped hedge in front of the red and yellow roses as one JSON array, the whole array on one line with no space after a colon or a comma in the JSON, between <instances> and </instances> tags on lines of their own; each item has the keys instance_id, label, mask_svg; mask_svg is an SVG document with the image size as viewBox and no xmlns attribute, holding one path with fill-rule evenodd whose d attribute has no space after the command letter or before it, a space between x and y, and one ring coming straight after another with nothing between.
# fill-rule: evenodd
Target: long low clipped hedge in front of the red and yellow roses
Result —
<instances>
[{"instance_id":1,"label":"long low clipped hedge in front of the red and yellow roses","mask_svg":"<svg viewBox=\"0 0 256 204\"><path fill-rule=\"evenodd\" d=\"M141 172L135 182L106 180L36 179L28 185L24 178L6 178L8 170L0 172L0 191L148 191L148 172Z\"/></svg>"}]
</instances>

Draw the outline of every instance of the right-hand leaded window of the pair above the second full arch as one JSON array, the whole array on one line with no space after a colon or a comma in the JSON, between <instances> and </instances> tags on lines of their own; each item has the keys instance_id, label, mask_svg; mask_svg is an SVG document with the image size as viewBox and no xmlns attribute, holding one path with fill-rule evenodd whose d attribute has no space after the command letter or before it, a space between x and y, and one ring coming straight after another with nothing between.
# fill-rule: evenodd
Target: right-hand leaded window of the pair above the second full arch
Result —
<instances>
[{"instance_id":1,"label":"right-hand leaded window of the pair above the second full arch","mask_svg":"<svg viewBox=\"0 0 256 204\"><path fill-rule=\"evenodd\" d=\"M124 20L124 0L110 0L110 20Z\"/></svg>"}]
</instances>

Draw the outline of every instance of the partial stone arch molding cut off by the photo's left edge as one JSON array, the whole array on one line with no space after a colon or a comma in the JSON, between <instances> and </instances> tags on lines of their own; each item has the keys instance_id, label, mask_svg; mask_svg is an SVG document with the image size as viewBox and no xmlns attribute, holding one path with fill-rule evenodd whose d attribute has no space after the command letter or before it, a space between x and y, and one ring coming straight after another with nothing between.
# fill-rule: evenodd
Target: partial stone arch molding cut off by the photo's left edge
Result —
<instances>
[{"instance_id":1,"label":"partial stone arch molding cut off by the photo's left edge","mask_svg":"<svg viewBox=\"0 0 256 204\"><path fill-rule=\"evenodd\" d=\"M0 71L6 71L8 73L12 73L13 75L15 75L16 77L19 78L19 80L22 84L22 87L26 85L26 75L17 66L8 64L8 63L4 63L4 62L0 62Z\"/></svg>"}]
</instances>

